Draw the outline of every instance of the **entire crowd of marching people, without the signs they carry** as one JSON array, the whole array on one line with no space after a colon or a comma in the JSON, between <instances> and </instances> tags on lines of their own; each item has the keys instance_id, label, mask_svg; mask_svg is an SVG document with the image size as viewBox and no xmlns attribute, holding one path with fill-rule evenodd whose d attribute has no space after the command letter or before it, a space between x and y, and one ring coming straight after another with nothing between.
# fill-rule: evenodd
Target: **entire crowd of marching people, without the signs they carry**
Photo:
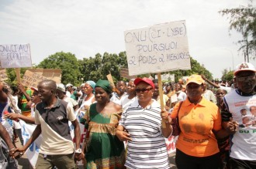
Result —
<instances>
[{"instance_id":1,"label":"entire crowd of marching people, without the signs they carry","mask_svg":"<svg viewBox=\"0 0 256 169\"><path fill-rule=\"evenodd\" d=\"M146 77L119 80L115 90L105 79L81 86L0 82L0 167L19 168L16 159L41 134L39 169L77 168L81 160L88 169L170 168L164 138L178 118L178 168L256 168L255 73L251 63L240 63L230 83L193 74L162 89ZM29 140L22 139L19 120L36 124Z\"/></svg>"}]
</instances>

